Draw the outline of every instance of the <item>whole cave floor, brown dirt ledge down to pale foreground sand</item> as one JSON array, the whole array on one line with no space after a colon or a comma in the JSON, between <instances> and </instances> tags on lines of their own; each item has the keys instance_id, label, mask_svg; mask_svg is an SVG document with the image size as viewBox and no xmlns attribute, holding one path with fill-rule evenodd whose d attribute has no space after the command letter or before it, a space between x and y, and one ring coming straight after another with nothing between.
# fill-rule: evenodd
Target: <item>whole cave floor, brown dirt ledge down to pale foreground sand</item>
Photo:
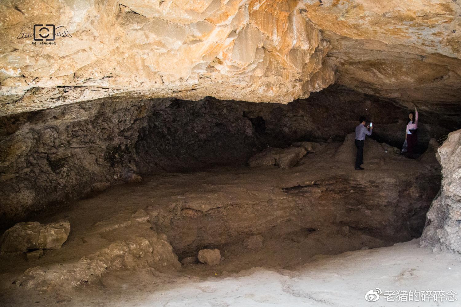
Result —
<instances>
[{"instance_id":1,"label":"whole cave floor, brown dirt ledge down to pale foreground sand","mask_svg":"<svg viewBox=\"0 0 461 307\"><path fill-rule=\"evenodd\" d=\"M340 231L343 224L323 215L320 217L325 218L324 225L309 220L307 216L325 209L329 200L354 201L354 191L349 189L346 196L335 196L337 183L330 186L332 176L362 181L376 189L388 182L402 185L408 172L437 176L436 166L389 154L381 147L375 148L379 152L368 152L365 171L355 171L343 156L338 159L339 146L325 144L321 152L308 154L290 170L237 167L144 176L141 183L112 187L58 212L37 217L42 223L67 219L71 234L61 249L46 251L34 262L25 261L22 254L2 256L0 294L4 304L367 306L372 303L366 302L364 295L376 287L453 289L459 293L461 265L454 255L432 254L420 249L416 241L391 246L398 236L375 236L365 226ZM328 181L327 188L322 187L324 183L312 186L319 180ZM282 191L287 187L296 187L296 193ZM362 186L355 188L360 188L355 193L366 193ZM408 192L411 191L416 190L413 187ZM376 197L387 199L393 195L388 192L392 191L383 191ZM300 203L300 199L307 199L306 203ZM272 205L272 212L264 207L266 203ZM337 201L338 205L343 203ZM392 207L387 201L364 206L359 202L353 211L370 214L362 216L363 224L386 223L386 214L392 217L397 212L378 211L387 206ZM235 207L239 211L226 211ZM261 212L260 208L266 209ZM306 210L312 211L306 214ZM232 216L235 212L242 215ZM251 219L245 219L245 213L257 218L256 226L248 224ZM295 213L305 214L303 220L296 220ZM386 218L380 220L380 214ZM265 216L270 219L262 218ZM349 218L352 223L355 215ZM194 221L201 225L194 225ZM302 226L302 221L308 223ZM337 225L330 225L331 221ZM232 225L240 228L231 228ZM262 248L245 249L243 238L256 233L264 237ZM210 243L213 238L215 244ZM142 245L139 242L147 239L154 250L168 241L175 252L181 251L177 253L179 260L203 247L219 248L223 259L218 266L195 263L172 269L177 259L168 258L161 250L154 260L145 260L148 257L138 249ZM24 273L34 266L42 270L38 275ZM439 305L432 302L424 306Z\"/></svg>"}]
</instances>

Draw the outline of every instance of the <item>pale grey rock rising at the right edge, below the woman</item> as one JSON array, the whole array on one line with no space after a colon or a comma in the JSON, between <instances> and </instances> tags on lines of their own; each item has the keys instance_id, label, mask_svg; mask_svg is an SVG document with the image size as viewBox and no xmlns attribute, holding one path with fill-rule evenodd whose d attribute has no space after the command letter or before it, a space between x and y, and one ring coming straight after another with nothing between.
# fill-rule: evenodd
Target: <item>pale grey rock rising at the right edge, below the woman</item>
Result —
<instances>
[{"instance_id":1,"label":"pale grey rock rising at the right edge, below the woman","mask_svg":"<svg viewBox=\"0 0 461 307\"><path fill-rule=\"evenodd\" d=\"M427 213L421 243L461 253L461 130L450 133L437 152L442 187Z\"/></svg>"}]
</instances>

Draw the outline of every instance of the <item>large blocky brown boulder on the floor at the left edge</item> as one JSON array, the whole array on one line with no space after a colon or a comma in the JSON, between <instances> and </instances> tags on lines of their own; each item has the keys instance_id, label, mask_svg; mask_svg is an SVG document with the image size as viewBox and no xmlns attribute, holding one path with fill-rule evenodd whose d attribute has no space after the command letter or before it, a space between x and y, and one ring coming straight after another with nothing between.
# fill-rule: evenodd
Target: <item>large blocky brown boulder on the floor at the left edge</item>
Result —
<instances>
[{"instance_id":1,"label":"large blocky brown boulder on the floor at the left edge","mask_svg":"<svg viewBox=\"0 0 461 307\"><path fill-rule=\"evenodd\" d=\"M60 249L71 232L71 223L60 220L49 224L18 223L0 238L2 253L26 252L29 249Z\"/></svg>"}]
</instances>

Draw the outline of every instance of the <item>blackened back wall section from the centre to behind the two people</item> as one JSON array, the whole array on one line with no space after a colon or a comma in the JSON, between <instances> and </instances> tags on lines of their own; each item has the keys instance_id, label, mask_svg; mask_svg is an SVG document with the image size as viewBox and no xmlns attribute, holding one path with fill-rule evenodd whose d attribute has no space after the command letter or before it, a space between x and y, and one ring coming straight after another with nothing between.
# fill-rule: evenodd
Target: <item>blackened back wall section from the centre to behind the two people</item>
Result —
<instances>
[{"instance_id":1,"label":"blackened back wall section from the centre to behind the two people","mask_svg":"<svg viewBox=\"0 0 461 307\"><path fill-rule=\"evenodd\" d=\"M400 148L409 110L394 100L337 85L289 104L211 97L197 102L173 100L168 107L153 107L136 144L137 163L144 172L244 164L267 146L343 141L361 115L374 122L373 139ZM420 153L431 138L440 139L461 121L461 113L447 118L431 110L419 112Z\"/></svg>"}]
</instances>

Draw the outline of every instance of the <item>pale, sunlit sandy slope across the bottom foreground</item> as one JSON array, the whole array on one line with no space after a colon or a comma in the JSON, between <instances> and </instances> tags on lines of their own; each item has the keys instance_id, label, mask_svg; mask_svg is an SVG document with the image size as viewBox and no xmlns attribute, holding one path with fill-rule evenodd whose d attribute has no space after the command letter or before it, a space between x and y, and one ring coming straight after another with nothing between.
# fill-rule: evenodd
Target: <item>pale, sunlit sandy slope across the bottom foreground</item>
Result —
<instances>
[{"instance_id":1,"label":"pale, sunlit sandy slope across the bottom foreground","mask_svg":"<svg viewBox=\"0 0 461 307\"><path fill-rule=\"evenodd\" d=\"M93 299L92 303L113 307L461 306L459 255L433 253L431 249L420 248L418 240L314 259L293 271L256 267L226 278L180 278L181 281L164 284L160 286L163 289L154 291L141 283L137 285L136 295L132 293L127 297L120 293L122 300ZM376 287L383 291L453 290L458 294L458 301L388 302L383 296L376 302L366 301L365 293ZM144 294L142 288L146 291ZM78 301L85 301L83 297L74 299L73 304L77 305Z\"/></svg>"}]
</instances>

